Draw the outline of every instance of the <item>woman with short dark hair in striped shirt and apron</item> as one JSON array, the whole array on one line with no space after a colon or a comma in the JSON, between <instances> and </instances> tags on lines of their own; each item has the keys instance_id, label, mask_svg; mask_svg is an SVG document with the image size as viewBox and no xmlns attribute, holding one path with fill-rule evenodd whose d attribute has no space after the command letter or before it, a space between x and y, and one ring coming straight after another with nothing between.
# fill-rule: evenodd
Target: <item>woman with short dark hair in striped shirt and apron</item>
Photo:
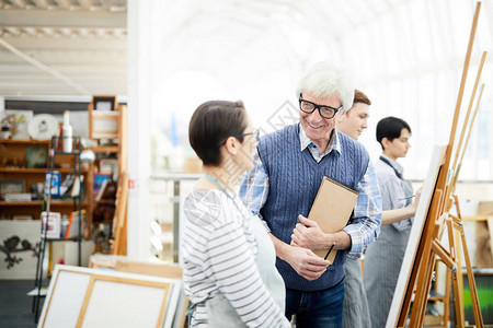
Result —
<instances>
[{"instance_id":1,"label":"woman with short dark hair in striped shirt and apron","mask_svg":"<svg viewBox=\"0 0 493 328\"><path fill-rule=\"evenodd\" d=\"M290 327L274 245L236 192L253 167L259 131L241 102L214 101L195 110L188 138L205 172L184 202L191 327Z\"/></svg>"}]
</instances>

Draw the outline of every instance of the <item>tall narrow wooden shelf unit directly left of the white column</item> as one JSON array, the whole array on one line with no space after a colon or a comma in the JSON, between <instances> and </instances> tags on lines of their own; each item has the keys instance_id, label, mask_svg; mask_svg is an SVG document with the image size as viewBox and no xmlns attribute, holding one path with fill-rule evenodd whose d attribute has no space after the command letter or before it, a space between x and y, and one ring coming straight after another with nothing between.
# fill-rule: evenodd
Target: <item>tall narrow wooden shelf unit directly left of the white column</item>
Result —
<instances>
[{"instance_id":1,"label":"tall narrow wooden shelf unit directly left of the white column","mask_svg":"<svg viewBox=\"0 0 493 328\"><path fill-rule=\"evenodd\" d=\"M104 106L99 108L99 104ZM88 113L89 138L95 144L90 148L95 161L89 168L88 227L95 241L95 251L111 253L115 237L122 236L116 231L122 224L117 223L126 220L126 199L121 199L121 186L127 163L127 107L118 104L116 96L93 96Z\"/></svg>"}]
</instances>

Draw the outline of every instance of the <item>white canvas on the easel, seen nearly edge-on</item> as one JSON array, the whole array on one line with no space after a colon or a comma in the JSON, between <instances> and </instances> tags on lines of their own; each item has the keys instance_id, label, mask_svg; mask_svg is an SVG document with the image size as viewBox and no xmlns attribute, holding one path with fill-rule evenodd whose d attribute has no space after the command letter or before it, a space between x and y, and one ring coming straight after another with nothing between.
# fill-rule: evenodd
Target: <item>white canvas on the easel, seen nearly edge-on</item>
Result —
<instances>
[{"instance_id":1,"label":"white canvas on the easel, seen nearly edge-on","mask_svg":"<svg viewBox=\"0 0 493 328\"><path fill-rule=\"evenodd\" d=\"M399 311L404 302L405 291L411 278L411 271L417 255L417 247L423 234L423 229L432 202L433 192L435 190L436 179L439 168L444 161L446 147L435 145L433 156L429 162L428 173L423 185L420 202L417 204L416 214L414 215L413 226L409 236L408 246L405 247L404 258L401 265L398 283L393 293L392 304L390 305L389 316L387 317L386 328L397 327L399 320Z\"/></svg>"}]
</instances>

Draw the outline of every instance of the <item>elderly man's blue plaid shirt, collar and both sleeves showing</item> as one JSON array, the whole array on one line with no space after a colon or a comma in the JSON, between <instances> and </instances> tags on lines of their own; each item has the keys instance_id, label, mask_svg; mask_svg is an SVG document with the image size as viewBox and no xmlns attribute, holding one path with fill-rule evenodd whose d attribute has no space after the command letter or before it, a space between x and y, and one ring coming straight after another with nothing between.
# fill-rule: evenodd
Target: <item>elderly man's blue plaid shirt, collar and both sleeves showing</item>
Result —
<instances>
[{"instance_id":1,"label":"elderly man's blue plaid shirt, collar and both sleeves showing","mask_svg":"<svg viewBox=\"0 0 493 328\"><path fill-rule=\"evenodd\" d=\"M332 151L342 152L337 133L329 141L329 144L323 153L320 149L305 134L303 129L299 128L300 151L308 148L312 157L319 163L322 159ZM268 175L259 156L259 152L254 155L254 167L246 172L243 177L243 183L240 189L240 197L243 203L249 208L253 214L261 219L260 210L265 204L268 196ZM377 177L371 162L362 180L356 187L359 192L354 208L353 216L349 224L344 227L352 241L352 247L347 254L351 258L358 258L362 256L365 247L375 241L380 233L381 223L381 198L378 189ZM271 230L267 223L262 221L268 232Z\"/></svg>"}]
</instances>

